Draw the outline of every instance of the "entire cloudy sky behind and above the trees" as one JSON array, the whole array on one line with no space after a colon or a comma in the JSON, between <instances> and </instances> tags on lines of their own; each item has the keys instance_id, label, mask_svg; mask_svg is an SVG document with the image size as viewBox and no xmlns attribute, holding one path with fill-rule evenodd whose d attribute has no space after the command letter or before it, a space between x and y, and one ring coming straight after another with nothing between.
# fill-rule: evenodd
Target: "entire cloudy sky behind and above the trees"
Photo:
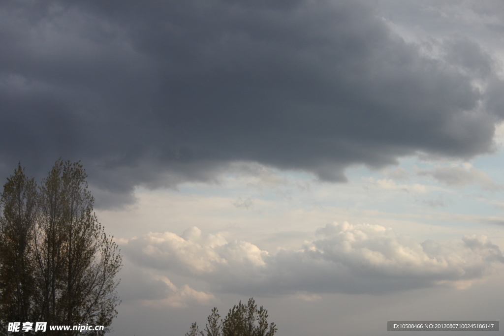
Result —
<instances>
[{"instance_id":1,"label":"entire cloudy sky behind and above the trees","mask_svg":"<svg viewBox=\"0 0 504 336\"><path fill-rule=\"evenodd\" d=\"M501 1L4 0L0 46L0 176L82 162L111 335L502 319Z\"/></svg>"}]
</instances>

